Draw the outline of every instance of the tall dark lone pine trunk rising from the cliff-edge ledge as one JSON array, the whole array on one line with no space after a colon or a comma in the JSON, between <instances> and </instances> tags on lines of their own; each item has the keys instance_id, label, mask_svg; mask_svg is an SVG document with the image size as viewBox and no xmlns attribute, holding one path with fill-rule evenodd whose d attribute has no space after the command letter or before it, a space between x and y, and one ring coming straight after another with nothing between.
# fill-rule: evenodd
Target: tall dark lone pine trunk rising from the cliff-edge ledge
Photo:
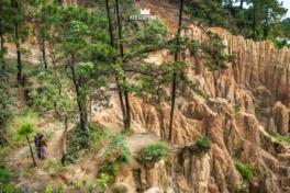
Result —
<instances>
[{"instance_id":1,"label":"tall dark lone pine trunk rising from the cliff-edge ledge","mask_svg":"<svg viewBox=\"0 0 290 193\"><path fill-rule=\"evenodd\" d=\"M182 22L182 11L183 11L183 0L180 1L180 10L179 10L179 23L178 23L178 31L177 31L177 50L175 54L175 61L178 59L178 53L179 53L179 36L180 36L180 30L181 30L181 22ZM170 123L169 123L169 140L172 140L172 126L174 126L174 115L175 115L175 101L176 101L176 72L174 72L172 77L172 101L171 101L171 111L170 111Z\"/></svg>"}]
</instances>

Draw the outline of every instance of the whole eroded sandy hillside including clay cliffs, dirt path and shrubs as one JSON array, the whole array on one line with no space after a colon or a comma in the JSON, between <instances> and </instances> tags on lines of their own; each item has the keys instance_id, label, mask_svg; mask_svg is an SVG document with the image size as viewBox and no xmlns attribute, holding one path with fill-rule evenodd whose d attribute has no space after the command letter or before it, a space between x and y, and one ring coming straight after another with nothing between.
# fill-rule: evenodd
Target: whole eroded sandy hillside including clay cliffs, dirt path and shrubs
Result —
<instances>
[{"instance_id":1,"label":"whole eroded sandy hillside including clay cliffs, dirt path and shrubs","mask_svg":"<svg viewBox=\"0 0 290 193\"><path fill-rule=\"evenodd\" d=\"M75 3L82 4L87 1ZM137 10L150 9L152 15L160 16L168 29L166 37L163 37L163 44L167 44L165 41L174 38L178 31L178 4L168 1L146 0L136 1L134 7ZM185 14L185 18L189 16ZM64 23L62 24L64 25ZM98 24L102 26L103 23ZM13 88L14 80L9 84L13 90L15 115L3 125L5 132L1 137L3 136L8 143L1 146L3 148L0 158L7 166L5 171L19 172L19 174L9 177L4 181L4 185L13 183L12 188L7 188L4 192L15 192L19 186L24 192L46 193L49 191L59 193L290 192L290 50L286 46L277 49L276 44L269 39L255 42L252 38L245 39L243 36L232 35L222 27L207 27L190 21L183 21L182 24L187 27L181 29L180 36L187 38L186 41L180 39L181 43L190 41L196 41L200 45L211 43L212 39L208 33L211 31L222 37L221 42L225 48L221 53L235 57L233 60L226 61L227 68L211 70L207 65L207 58L201 57L201 47L194 49L197 50L196 55L192 55L190 48L177 52L177 57L182 60L178 65L183 65L181 66L183 68L177 71L181 78L177 81L171 138L169 137L171 101L166 99L166 96L171 99L171 82L168 81L158 88L164 90L165 96L161 95L164 100L158 98L157 102L154 93L156 90L158 93L158 89L146 84L147 82L154 84L161 77L157 75L158 70L163 70L159 67L175 64L175 56L170 47L149 47L153 50L146 50L148 53L146 57L143 58L141 56L143 54L138 53L136 57L133 57L135 50L147 46L145 37L145 41L138 39L141 43L135 39L140 35L136 30L133 37L130 36L124 41L124 50L129 54L122 60L118 58L119 56L113 55L111 48L103 52L107 48L105 45L101 48L98 46L91 48L88 45L83 49L75 52L72 49L77 47L75 43L80 42L87 45L86 41L79 38L86 33L81 34L78 31L79 37L72 41L74 44L64 44L64 47L57 47L57 43L53 42L56 45L55 49L51 49L48 45L52 44L47 44L46 50L51 58L47 61L51 71L43 75L42 71L34 70L34 68L40 68L37 59L42 57L42 53L35 38L30 37L22 45L32 49L29 58L23 58L26 81L20 88ZM79 23L74 25L81 26ZM145 29L147 25L135 23L133 29L137 29L137 26ZM74 29L72 25L70 27ZM102 29L99 30L96 32L101 34ZM154 31L155 29L149 30ZM116 33L115 31L113 32ZM133 30L125 31L124 34L131 35L134 32ZM53 30L49 33L54 34ZM104 30L105 33L108 33L107 30ZM88 34L93 35L93 33ZM54 35L59 37L58 35L63 34L55 33ZM71 35L70 32L64 36L69 39L72 36L69 35ZM154 41L156 41L155 36L159 36L159 34L153 34L153 37L150 35L148 35L148 39ZM102 45L103 39L109 39L103 34L92 37L99 38L100 36L101 38L96 45ZM116 36L114 37L116 38ZM60 37L63 38L63 36ZM86 39L91 41L92 37L89 36ZM153 44L158 45L156 42ZM13 44L5 45L9 53L7 60L15 59L16 53ZM186 47L186 45L182 46ZM116 52L121 49L116 48L118 46L112 47ZM55 52L70 49L70 53L62 53L59 56ZM81 64L81 59L87 61L94 49L98 49L96 54L98 57L90 59L93 63L97 60L98 65L100 63L101 67L97 66L97 69L101 71L103 68L101 75L97 70L89 71L89 76L83 76L86 73L83 71L93 67L89 63L87 66L86 63L82 63L83 71L80 70L77 73L79 76L78 83L71 81L74 77L65 77L70 68L67 63L78 59L79 64ZM107 56L105 59L100 54L102 52L99 50L105 53L103 54ZM74 57L75 53L76 58ZM82 56L83 58L81 58ZM125 65L122 66L125 64L126 57L133 58L127 61L132 69ZM107 58L114 59L108 61ZM121 64L122 61L123 64L120 66L125 69L125 78L122 77L122 70L118 69L119 73L114 73L113 66L107 67L107 61L108 64ZM135 66L140 63L153 67L148 69L143 67L147 71L142 71L143 68L137 71L140 69ZM11 61L11 64L13 63ZM62 70L57 71L58 69ZM102 73L108 78L105 83L103 83L104 79L100 78ZM142 76L149 73L155 77L144 78L140 73ZM182 79L181 75L183 73L199 90L182 81L185 78ZM74 76L74 73L71 75ZM9 76L14 79L15 73L12 71L9 72ZM123 82L115 81L118 78ZM124 81L125 79L127 82ZM138 80L143 80L142 89L144 90L142 91L138 90L141 88ZM99 82L100 84L98 84ZM133 87L130 83L137 86ZM62 87L56 87L59 84ZM79 105L82 101L78 96L83 93L78 93L79 88L77 87L85 88L83 84L88 84L89 90L88 92L85 90L83 93L87 95L81 98L83 101L86 101L87 104L82 106L86 110L81 110L81 105ZM49 88L55 90L49 90ZM60 92L59 88L63 89ZM120 88L124 93L122 101L123 99L126 101L126 92L130 101L131 122L130 128L125 129L125 116L122 105L120 105ZM204 95L208 95L208 99ZM43 99L38 100L41 96ZM55 101L49 102L51 100ZM40 106L49 106L51 109L42 106L43 109L40 110L40 107L35 107L37 103ZM57 110L60 113L57 113ZM85 114L82 111L88 113L86 130L81 129L80 122ZM66 122L66 117L70 118L69 122ZM36 159L37 167L32 164L30 147L25 138L16 139L15 137L15 128L24 123L32 123L37 127L31 134L31 140L36 132L45 134L47 139L48 156L46 160ZM86 133L88 130L90 133ZM64 135L66 133L68 133L67 138ZM83 145L83 141L88 143ZM31 144L33 146L33 141ZM158 146L150 146L153 144ZM67 150L66 166L60 162L64 147ZM145 154L146 147L152 148L147 155ZM36 157L35 149L33 150L34 157Z\"/></svg>"}]
</instances>

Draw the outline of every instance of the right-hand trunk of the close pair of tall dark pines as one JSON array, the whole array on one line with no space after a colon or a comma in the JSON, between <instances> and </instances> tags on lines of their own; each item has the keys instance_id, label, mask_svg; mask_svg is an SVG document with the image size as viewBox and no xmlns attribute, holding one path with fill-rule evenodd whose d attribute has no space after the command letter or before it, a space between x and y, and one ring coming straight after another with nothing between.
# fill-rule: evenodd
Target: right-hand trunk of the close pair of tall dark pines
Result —
<instances>
[{"instance_id":1,"label":"right-hand trunk of the close pair of tall dark pines","mask_svg":"<svg viewBox=\"0 0 290 193\"><path fill-rule=\"evenodd\" d=\"M121 21L120 21L120 11L119 11L119 0L115 0L115 8L116 8L116 19L118 19L118 34L119 34L119 41L122 39L122 26L121 26ZM123 44L120 43L120 54L121 54L121 58L123 61L124 58L124 47ZM122 68L123 69L123 68ZM123 78L123 82L125 83L126 81L126 77L125 77L125 72L124 72L124 78ZM129 100L129 92L126 91L126 88L124 88L124 96L125 96L125 125L124 128L125 129L130 129L131 126L131 113L130 113L130 100Z\"/></svg>"}]
</instances>

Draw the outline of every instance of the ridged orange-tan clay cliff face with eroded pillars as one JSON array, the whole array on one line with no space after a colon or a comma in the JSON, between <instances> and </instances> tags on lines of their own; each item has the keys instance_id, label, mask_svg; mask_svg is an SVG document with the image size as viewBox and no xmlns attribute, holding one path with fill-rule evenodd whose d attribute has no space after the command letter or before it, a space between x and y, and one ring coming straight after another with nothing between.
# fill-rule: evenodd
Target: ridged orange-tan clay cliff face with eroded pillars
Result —
<instances>
[{"instance_id":1,"label":"ridged orange-tan clay cliff face with eroded pillars","mask_svg":"<svg viewBox=\"0 0 290 193\"><path fill-rule=\"evenodd\" d=\"M280 135L289 133L290 52L277 52L271 42L253 42L233 36L222 29L211 29L224 37L227 54L235 54L228 69L209 71L202 59L182 53L180 57L197 68L188 76L210 95L205 101L192 90L179 84L172 144L168 162L156 162L152 168L141 166L135 179L141 192L235 192L244 185L247 192L289 192L289 147L270 137L269 129ZM182 33L185 34L185 33ZM207 35L197 26L187 36L198 41ZM156 64L172 60L167 50L152 53L148 60ZM277 102L276 102L277 101ZM108 116L98 120L105 124L115 116L121 124L118 101ZM165 128L168 128L170 107L163 103ZM239 109L234 111L233 106ZM160 114L155 106L131 95L132 128L135 132L160 135ZM168 130L166 130L168 135ZM213 144L209 152L198 152L190 143L209 136ZM194 148L193 148L194 149ZM234 166L234 158L254 163L257 171L250 182L243 181Z\"/></svg>"}]
</instances>

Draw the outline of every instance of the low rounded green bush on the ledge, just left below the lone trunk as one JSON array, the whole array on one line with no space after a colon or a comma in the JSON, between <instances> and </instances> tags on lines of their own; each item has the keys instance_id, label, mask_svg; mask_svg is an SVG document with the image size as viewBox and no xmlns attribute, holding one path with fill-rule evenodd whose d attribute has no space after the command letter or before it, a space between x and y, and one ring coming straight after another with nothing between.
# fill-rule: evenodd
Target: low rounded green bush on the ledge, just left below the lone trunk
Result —
<instances>
[{"instance_id":1,"label":"low rounded green bush on the ledge, just left below the lone trunk","mask_svg":"<svg viewBox=\"0 0 290 193\"><path fill-rule=\"evenodd\" d=\"M142 157L147 161L159 161L168 159L168 147L166 144L150 144L141 150Z\"/></svg>"}]
</instances>

